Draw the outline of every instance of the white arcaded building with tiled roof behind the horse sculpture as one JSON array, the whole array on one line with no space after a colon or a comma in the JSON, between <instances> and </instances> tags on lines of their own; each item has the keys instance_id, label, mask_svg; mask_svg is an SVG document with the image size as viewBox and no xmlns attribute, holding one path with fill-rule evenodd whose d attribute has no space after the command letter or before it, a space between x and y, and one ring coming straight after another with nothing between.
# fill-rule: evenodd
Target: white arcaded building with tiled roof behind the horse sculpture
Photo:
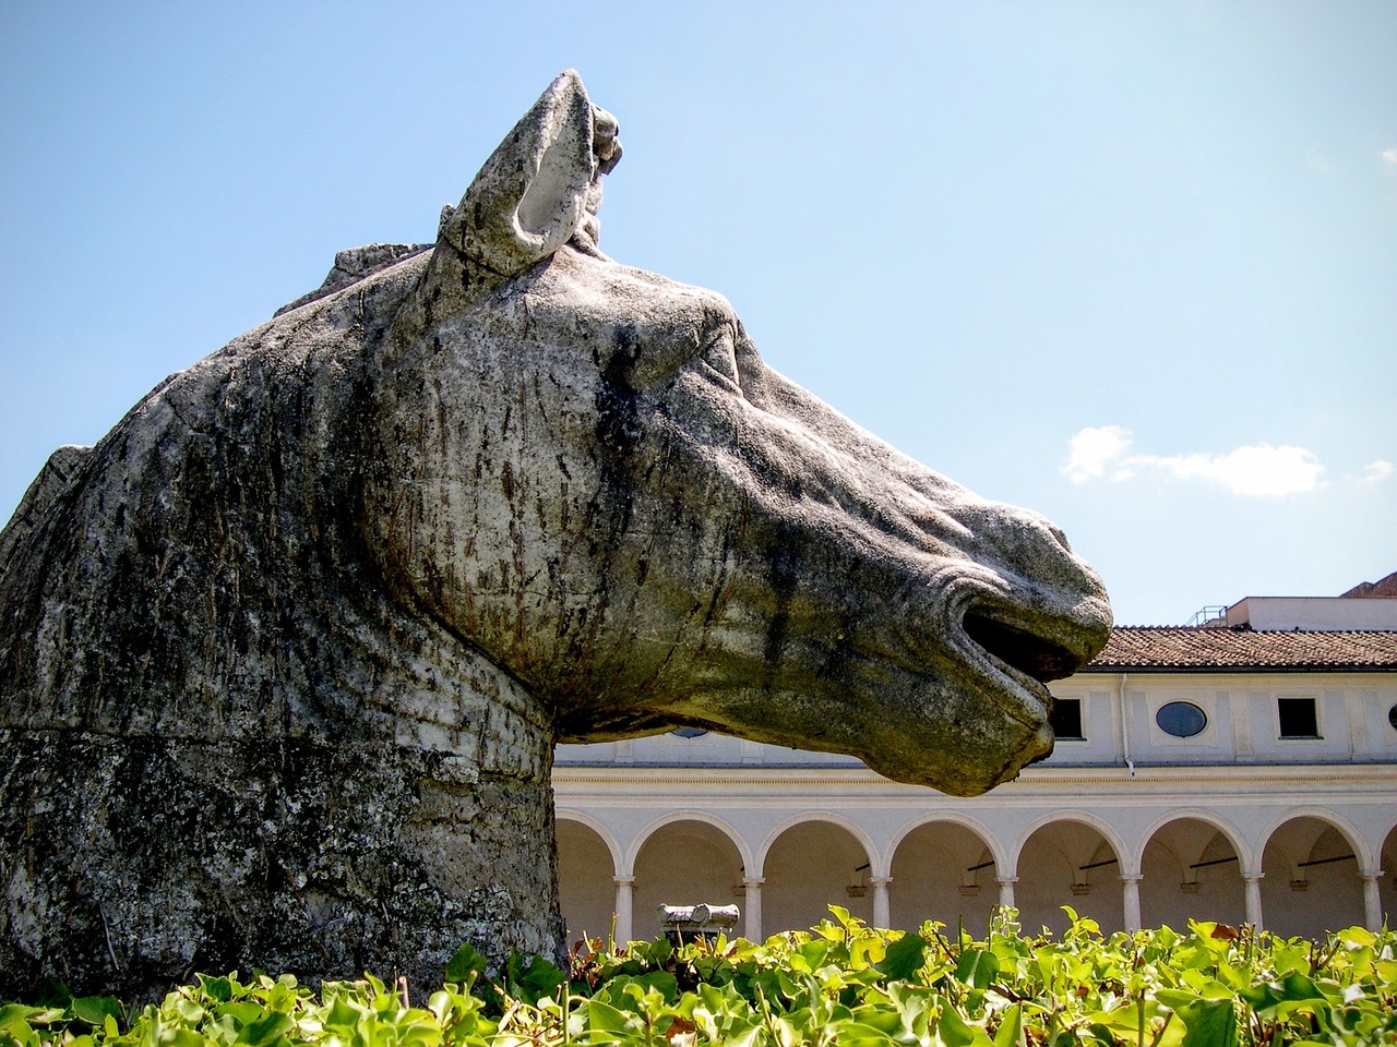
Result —
<instances>
[{"instance_id":1,"label":"white arcaded building with tiled roof behind the horse sculpture","mask_svg":"<svg viewBox=\"0 0 1397 1047\"><path fill-rule=\"evenodd\" d=\"M1299 603L1118 628L1052 685L1053 755L974 799L712 733L562 745L569 931L650 938L659 903L733 900L754 940L830 903L977 935L996 905L1030 930L1063 930L1062 906L1104 931L1377 928L1397 916L1397 599Z\"/></svg>"}]
</instances>

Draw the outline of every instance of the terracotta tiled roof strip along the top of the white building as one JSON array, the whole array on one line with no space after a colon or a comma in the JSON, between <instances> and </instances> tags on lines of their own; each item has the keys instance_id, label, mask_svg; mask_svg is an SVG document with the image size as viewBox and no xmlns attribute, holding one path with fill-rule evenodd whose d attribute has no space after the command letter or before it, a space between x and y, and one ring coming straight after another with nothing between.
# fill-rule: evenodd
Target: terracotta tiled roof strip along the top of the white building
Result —
<instances>
[{"instance_id":1,"label":"terracotta tiled roof strip along the top of the white building","mask_svg":"<svg viewBox=\"0 0 1397 1047\"><path fill-rule=\"evenodd\" d=\"M1083 671L1397 671L1397 632L1122 625Z\"/></svg>"}]
</instances>

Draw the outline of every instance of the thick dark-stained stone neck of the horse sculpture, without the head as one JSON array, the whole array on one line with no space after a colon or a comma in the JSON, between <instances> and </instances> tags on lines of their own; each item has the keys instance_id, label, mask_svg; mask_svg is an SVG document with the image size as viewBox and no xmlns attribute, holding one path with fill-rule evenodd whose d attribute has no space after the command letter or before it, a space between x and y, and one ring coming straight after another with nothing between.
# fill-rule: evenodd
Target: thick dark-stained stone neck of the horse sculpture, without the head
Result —
<instances>
[{"instance_id":1,"label":"thick dark-stained stone neck of the horse sculpture, without the head","mask_svg":"<svg viewBox=\"0 0 1397 1047\"><path fill-rule=\"evenodd\" d=\"M391 315L405 268L166 381L56 455L6 532L22 803L0 853L24 916L0 994L42 967L159 995L249 956L430 984L462 940L562 941L550 713L402 606L349 505L363 317ZM41 845L36 819L73 831Z\"/></svg>"}]
</instances>

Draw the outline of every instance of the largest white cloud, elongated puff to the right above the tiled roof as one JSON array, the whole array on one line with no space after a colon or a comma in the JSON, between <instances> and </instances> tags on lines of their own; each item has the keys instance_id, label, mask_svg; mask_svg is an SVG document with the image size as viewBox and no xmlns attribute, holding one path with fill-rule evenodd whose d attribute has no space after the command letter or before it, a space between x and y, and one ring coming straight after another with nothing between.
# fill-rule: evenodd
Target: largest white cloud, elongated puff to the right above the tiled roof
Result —
<instances>
[{"instance_id":1,"label":"largest white cloud, elongated puff to the right above the tiled roof","mask_svg":"<svg viewBox=\"0 0 1397 1047\"><path fill-rule=\"evenodd\" d=\"M1155 472L1176 480L1214 483L1232 494L1255 498L1305 494L1320 486L1324 473L1319 456L1303 447L1246 444L1221 455L1132 455L1127 451L1133 443L1134 437L1120 426L1083 429L1067 444L1067 461L1062 472L1073 483L1108 475L1112 482L1122 483L1141 473ZM1369 470L1379 465L1375 462ZM1382 465L1389 472L1393 469L1389 462ZM1383 476L1375 475L1372 482Z\"/></svg>"}]
</instances>

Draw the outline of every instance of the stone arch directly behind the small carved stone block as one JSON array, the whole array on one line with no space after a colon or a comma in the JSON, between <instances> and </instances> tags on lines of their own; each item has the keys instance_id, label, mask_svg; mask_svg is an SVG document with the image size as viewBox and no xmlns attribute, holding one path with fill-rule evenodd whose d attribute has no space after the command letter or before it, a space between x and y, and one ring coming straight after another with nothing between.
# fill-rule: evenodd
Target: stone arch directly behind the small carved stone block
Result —
<instances>
[{"instance_id":1,"label":"stone arch directly behind the small carved stone block","mask_svg":"<svg viewBox=\"0 0 1397 1047\"><path fill-rule=\"evenodd\" d=\"M742 838L721 818L675 811L651 822L627 863L634 877L633 935L659 934L661 905L740 903L745 866Z\"/></svg>"}]
</instances>

